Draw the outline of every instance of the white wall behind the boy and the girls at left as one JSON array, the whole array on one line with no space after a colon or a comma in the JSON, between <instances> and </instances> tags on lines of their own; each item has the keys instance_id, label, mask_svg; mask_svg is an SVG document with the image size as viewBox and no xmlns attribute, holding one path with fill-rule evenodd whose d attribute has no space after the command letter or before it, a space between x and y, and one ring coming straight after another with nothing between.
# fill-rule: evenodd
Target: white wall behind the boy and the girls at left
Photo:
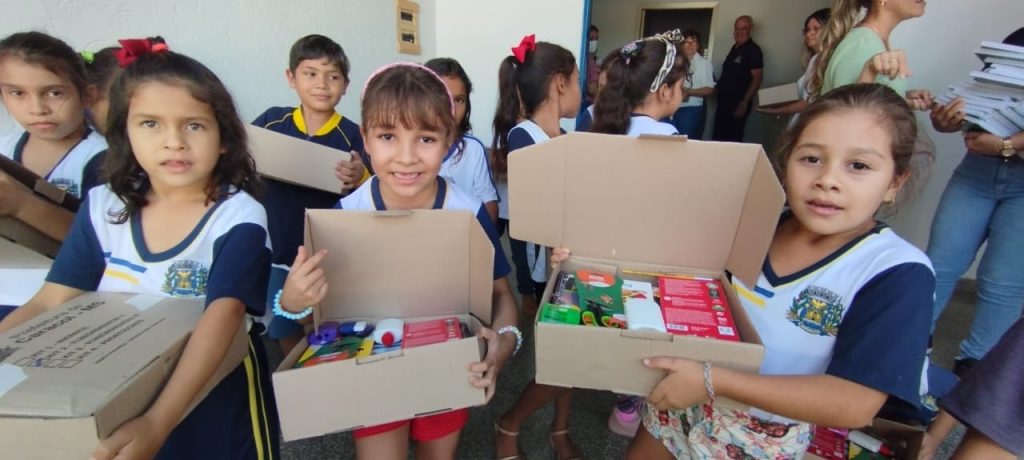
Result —
<instances>
[{"instance_id":1,"label":"white wall behind the boy and the girls at left","mask_svg":"<svg viewBox=\"0 0 1024 460\"><path fill-rule=\"evenodd\" d=\"M375 69L434 55L434 4L419 0L422 54L399 54L391 0L4 0L0 34L37 30L75 49L98 50L119 38L161 35L171 49L210 67L234 96L244 120L270 106L298 103L288 87L288 51L307 34L331 37L352 64L338 112L358 120L359 92ZM0 111L0 132L15 128Z\"/></svg>"}]
</instances>

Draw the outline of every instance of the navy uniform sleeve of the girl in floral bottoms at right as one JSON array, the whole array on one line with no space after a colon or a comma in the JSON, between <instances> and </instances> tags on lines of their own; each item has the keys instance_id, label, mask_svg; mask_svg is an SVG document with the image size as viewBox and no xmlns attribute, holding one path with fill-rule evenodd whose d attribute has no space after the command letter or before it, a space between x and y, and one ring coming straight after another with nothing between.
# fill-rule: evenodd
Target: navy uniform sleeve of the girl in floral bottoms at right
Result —
<instances>
[{"instance_id":1,"label":"navy uniform sleeve of the girl in floral bottoms at right","mask_svg":"<svg viewBox=\"0 0 1024 460\"><path fill-rule=\"evenodd\" d=\"M825 373L919 408L934 293L935 275L921 263L877 275L843 318Z\"/></svg>"}]
</instances>

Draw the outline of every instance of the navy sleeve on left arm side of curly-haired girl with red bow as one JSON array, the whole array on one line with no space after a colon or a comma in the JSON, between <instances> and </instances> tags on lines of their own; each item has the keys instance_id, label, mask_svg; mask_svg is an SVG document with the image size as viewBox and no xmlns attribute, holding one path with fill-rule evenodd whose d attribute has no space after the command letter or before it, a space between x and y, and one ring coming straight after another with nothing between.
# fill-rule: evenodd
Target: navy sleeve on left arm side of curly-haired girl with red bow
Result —
<instances>
[{"instance_id":1,"label":"navy sleeve on left arm side of curly-haired girl with red bow","mask_svg":"<svg viewBox=\"0 0 1024 460\"><path fill-rule=\"evenodd\" d=\"M113 225L113 224L112 224ZM124 223L127 225L127 223ZM46 281L83 291L95 291L106 269L103 249L89 216L89 199L82 202L65 237Z\"/></svg>"}]
</instances>

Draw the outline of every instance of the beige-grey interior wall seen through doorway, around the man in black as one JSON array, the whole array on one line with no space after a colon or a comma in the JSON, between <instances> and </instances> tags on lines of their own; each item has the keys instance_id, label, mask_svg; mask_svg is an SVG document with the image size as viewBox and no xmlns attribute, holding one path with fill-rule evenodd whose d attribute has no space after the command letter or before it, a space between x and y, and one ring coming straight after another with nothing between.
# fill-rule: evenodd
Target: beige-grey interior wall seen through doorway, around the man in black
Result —
<instances>
[{"instance_id":1,"label":"beige-grey interior wall seen through doorway, around the man in black","mask_svg":"<svg viewBox=\"0 0 1024 460\"><path fill-rule=\"evenodd\" d=\"M764 83L769 87L797 81L803 73L800 50L803 47L804 19L816 9L829 6L829 0L593 0L591 23L601 30L598 56L636 40L640 34L640 8L687 3L717 3L712 31L714 37L703 37L705 45L713 44L710 56L718 77L729 48L732 47L732 25L736 17L750 14L754 17L754 41L764 52ZM709 57L709 56L705 56ZM706 138L711 138L714 98L709 107ZM759 142L769 150L775 137L785 127L785 119L776 119L758 113L751 115L746 124L746 141Z\"/></svg>"}]
</instances>

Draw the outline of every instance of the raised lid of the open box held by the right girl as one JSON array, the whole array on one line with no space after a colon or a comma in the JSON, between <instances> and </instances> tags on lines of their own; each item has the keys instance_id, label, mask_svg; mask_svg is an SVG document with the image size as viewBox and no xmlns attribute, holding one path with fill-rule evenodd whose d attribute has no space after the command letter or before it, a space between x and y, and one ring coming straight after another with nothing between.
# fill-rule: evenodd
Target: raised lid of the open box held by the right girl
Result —
<instances>
[{"instance_id":1,"label":"raised lid of the open box held by the right girl","mask_svg":"<svg viewBox=\"0 0 1024 460\"><path fill-rule=\"evenodd\" d=\"M749 234L773 226L783 203L757 144L570 133L508 164L511 235L599 259L737 263L745 276L755 260L760 270L772 233Z\"/></svg>"}]
</instances>

